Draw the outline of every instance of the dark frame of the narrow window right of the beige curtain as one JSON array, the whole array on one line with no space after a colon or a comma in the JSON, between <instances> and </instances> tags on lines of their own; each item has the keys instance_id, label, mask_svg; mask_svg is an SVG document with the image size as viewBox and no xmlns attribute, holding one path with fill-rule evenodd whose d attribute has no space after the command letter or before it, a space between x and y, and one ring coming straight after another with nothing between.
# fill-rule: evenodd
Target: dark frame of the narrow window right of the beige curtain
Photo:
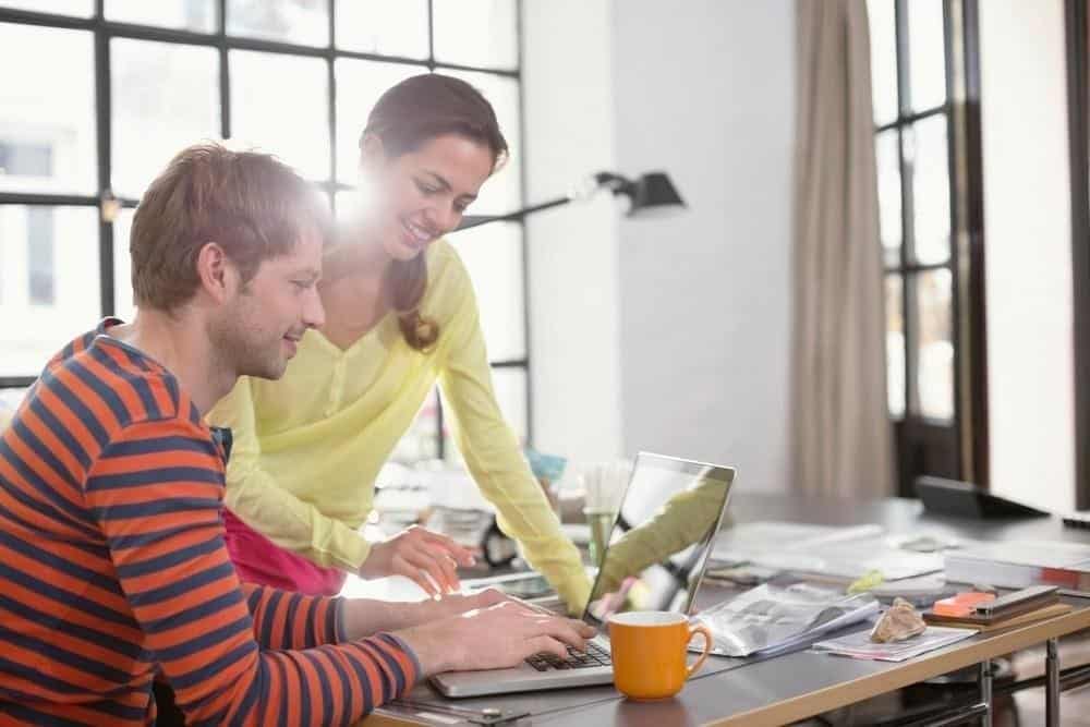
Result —
<instances>
[{"instance_id":1,"label":"dark frame of the narrow window right of the beige curtain","mask_svg":"<svg viewBox=\"0 0 1090 727\"><path fill-rule=\"evenodd\" d=\"M988 487L988 381L984 329L983 173L980 137L980 64L977 0L943 0L946 99L918 111L910 104L910 45L908 0L891 0L895 15L897 116L875 124L874 134L895 132L900 185L900 249L895 265L885 263L883 290L889 276L901 281L901 326L905 336L904 411L889 414L897 452L897 492L915 496L916 478L937 475ZM907 61L907 62L906 62ZM921 264L910 258L915 245L913 168L906 161L904 134L925 119L944 117L947 138L950 239L944 263ZM876 241L881 244L881 240ZM932 270L950 274L950 339L954 344L953 397L949 421L924 416L919 407L916 352L919 349L919 310L913 295L919 279Z\"/></svg>"}]
</instances>

